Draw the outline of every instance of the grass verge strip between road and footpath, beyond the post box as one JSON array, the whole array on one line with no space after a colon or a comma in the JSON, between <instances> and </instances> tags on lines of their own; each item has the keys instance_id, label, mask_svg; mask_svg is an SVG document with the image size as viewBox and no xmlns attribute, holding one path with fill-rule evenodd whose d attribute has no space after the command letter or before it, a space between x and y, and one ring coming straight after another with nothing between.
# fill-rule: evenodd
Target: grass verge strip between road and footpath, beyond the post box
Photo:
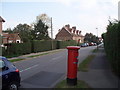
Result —
<instances>
[{"instance_id":1,"label":"grass verge strip between road and footpath, beyond the post box","mask_svg":"<svg viewBox=\"0 0 120 90\"><path fill-rule=\"evenodd\" d=\"M89 64L94 59L95 55L89 55L82 63L79 64L78 71L87 72L89 70Z\"/></svg>"}]
</instances>

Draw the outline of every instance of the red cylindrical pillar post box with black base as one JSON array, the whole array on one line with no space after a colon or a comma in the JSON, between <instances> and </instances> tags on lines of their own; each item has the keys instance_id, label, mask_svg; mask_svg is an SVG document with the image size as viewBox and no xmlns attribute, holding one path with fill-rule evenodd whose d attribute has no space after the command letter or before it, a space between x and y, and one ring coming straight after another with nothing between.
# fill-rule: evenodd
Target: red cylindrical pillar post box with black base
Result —
<instances>
[{"instance_id":1,"label":"red cylindrical pillar post box with black base","mask_svg":"<svg viewBox=\"0 0 120 90\"><path fill-rule=\"evenodd\" d=\"M68 69L67 69L67 84L77 84L77 63L78 63L78 46L68 46Z\"/></svg>"}]
</instances>

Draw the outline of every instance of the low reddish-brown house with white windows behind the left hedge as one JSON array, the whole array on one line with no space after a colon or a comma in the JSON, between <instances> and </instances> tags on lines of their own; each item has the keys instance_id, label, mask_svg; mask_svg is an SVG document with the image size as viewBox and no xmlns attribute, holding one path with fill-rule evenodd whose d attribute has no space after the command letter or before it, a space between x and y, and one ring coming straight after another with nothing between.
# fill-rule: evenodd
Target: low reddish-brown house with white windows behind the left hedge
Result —
<instances>
[{"instance_id":1,"label":"low reddish-brown house with white windows behind the left hedge","mask_svg":"<svg viewBox=\"0 0 120 90\"><path fill-rule=\"evenodd\" d=\"M3 37L3 40L2 40L3 44L21 43L21 39L19 37L19 33L12 33L12 34L3 33L2 37Z\"/></svg>"}]
</instances>

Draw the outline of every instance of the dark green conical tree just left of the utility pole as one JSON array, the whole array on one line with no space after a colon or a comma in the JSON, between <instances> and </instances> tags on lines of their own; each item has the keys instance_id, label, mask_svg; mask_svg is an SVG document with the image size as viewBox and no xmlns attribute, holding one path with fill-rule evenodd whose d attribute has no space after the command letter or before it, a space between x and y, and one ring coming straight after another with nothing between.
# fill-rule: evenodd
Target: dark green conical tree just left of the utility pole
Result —
<instances>
[{"instance_id":1,"label":"dark green conical tree just left of the utility pole","mask_svg":"<svg viewBox=\"0 0 120 90\"><path fill-rule=\"evenodd\" d=\"M38 20L37 24L34 25L34 30L32 31L33 37L36 40L48 40L50 37L48 36L48 26L42 22L42 20Z\"/></svg>"}]
</instances>

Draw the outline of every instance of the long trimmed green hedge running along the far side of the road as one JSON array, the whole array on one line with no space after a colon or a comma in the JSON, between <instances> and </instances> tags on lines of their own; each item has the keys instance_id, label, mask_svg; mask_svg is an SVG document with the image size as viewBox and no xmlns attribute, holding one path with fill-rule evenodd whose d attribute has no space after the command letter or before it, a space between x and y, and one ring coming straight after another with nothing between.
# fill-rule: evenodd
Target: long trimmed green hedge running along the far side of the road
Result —
<instances>
[{"instance_id":1,"label":"long trimmed green hedge running along the far side of the road","mask_svg":"<svg viewBox=\"0 0 120 90\"><path fill-rule=\"evenodd\" d=\"M66 48L67 46L74 45L77 45L75 41L53 41L53 49L61 49ZM29 53L37 53L52 50L51 41L34 40L28 43L12 43L8 44L7 46L7 50L5 50L5 48L2 49L3 56L24 55Z\"/></svg>"}]
</instances>

